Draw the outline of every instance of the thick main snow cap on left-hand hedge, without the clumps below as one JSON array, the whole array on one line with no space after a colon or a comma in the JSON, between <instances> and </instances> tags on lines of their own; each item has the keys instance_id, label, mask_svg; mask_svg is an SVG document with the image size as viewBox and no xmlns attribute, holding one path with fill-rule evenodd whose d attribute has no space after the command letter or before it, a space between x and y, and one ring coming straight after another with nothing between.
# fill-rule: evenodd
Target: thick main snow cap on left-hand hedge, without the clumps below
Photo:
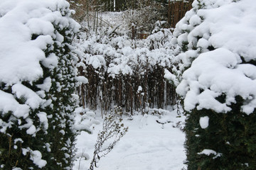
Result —
<instances>
[{"instance_id":1,"label":"thick main snow cap on left-hand hedge, without the clumps below","mask_svg":"<svg viewBox=\"0 0 256 170\"><path fill-rule=\"evenodd\" d=\"M43 50L53 44L53 39L60 42L63 36L55 33L55 25L78 25L68 17L63 17L68 8L67 1L0 1L0 80L5 84L15 84L21 80L33 81L41 77L43 70L39 61L49 64ZM58 11L60 9L60 11ZM57 10L57 11L56 11ZM53 12L54 11L54 12ZM68 13L70 16L70 13ZM40 35L33 40L33 35ZM55 65L55 57L50 64Z\"/></svg>"}]
</instances>

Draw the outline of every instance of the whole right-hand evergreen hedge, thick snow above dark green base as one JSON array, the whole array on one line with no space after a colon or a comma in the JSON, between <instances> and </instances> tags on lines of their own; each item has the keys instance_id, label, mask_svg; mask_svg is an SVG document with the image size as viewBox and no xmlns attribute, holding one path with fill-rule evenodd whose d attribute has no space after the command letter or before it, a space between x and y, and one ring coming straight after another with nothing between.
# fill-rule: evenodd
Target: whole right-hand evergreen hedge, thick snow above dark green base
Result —
<instances>
[{"instance_id":1,"label":"whole right-hand evergreen hedge, thick snow above dark green base","mask_svg":"<svg viewBox=\"0 0 256 170\"><path fill-rule=\"evenodd\" d=\"M196 0L176 25L188 169L255 169L256 3Z\"/></svg>"}]
</instances>

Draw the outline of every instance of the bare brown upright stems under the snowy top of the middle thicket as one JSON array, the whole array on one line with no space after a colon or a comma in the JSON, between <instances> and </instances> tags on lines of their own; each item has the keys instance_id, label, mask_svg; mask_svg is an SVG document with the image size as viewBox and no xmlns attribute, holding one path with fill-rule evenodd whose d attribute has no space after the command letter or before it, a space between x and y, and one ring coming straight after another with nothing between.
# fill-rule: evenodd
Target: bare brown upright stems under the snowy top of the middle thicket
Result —
<instances>
[{"instance_id":1,"label":"bare brown upright stems under the snowy top of the middle thicket","mask_svg":"<svg viewBox=\"0 0 256 170\"><path fill-rule=\"evenodd\" d=\"M104 111L115 105L122 106L131 114L147 106L164 108L175 105L175 86L164 79L164 67L156 65L145 71L144 75L120 74L113 78L102 69L94 69L89 65L86 72L80 72L89 81L78 89L80 101L84 107L94 110L98 106ZM138 91L139 86L142 86L142 91Z\"/></svg>"}]
</instances>

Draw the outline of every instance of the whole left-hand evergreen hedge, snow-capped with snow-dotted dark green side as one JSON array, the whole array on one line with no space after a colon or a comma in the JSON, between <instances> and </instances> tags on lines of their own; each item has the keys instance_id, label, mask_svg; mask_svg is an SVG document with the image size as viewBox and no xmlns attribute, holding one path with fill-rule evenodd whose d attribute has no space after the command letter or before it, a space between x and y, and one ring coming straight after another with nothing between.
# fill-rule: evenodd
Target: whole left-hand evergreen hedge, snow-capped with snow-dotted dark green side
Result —
<instances>
[{"instance_id":1,"label":"whole left-hand evergreen hedge, snow-capped with snow-dotted dark green side","mask_svg":"<svg viewBox=\"0 0 256 170\"><path fill-rule=\"evenodd\" d=\"M0 1L1 169L70 169L80 27L63 0Z\"/></svg>"}]
</instances>

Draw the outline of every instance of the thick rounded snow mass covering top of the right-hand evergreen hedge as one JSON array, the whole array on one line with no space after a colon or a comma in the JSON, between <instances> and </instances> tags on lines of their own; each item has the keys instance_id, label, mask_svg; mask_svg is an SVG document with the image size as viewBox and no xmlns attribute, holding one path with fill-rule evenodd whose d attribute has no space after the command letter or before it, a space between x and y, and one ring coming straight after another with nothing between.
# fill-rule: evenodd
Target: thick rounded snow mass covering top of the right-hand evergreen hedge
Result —
<instances>
[{"instance_id":1,"label":"thick rounded snow mass covering top of the right-hand evergreen hedge","mask_svg":"<svg viewBox=\"0 0 256 170\"><path fill-rule=\"evenodd\" d=\"M256 1L194 1L177 24L173 42L184 70L176 91L186 111L193 108L230 111L235 96L245 100L242 112L256 107ZM251 63L251 64L250 64ZM225 102L216 98L225 94Z\"/></svg>"}]
</instances>

